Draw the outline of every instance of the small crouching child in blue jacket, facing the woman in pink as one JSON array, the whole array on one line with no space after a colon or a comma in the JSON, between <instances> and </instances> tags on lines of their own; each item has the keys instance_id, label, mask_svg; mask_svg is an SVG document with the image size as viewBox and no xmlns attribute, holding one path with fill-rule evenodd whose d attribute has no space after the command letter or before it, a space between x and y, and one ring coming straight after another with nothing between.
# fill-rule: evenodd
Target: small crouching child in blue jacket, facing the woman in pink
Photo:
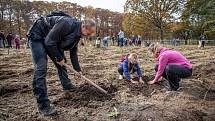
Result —
<instances>
[{"instance_id":1,"label":"small crouching child in blue jacket, facing the woman in pink","mask_svg":"<svg viewBox=\"0 0 215 121\"><path fill-rule=\"evenodd\" d=\"M121 63L119 64L118 72L120 74L119 75L120 80L122 80L124 76L127 81L131 83L138 83L137 81L134 81L130 75L137 72L139 82L144 83L144 81L142 80L142 71L138 64L138 57L137 54L135 53L128 54L121 58Z\"/></svg>"}]
</instances>

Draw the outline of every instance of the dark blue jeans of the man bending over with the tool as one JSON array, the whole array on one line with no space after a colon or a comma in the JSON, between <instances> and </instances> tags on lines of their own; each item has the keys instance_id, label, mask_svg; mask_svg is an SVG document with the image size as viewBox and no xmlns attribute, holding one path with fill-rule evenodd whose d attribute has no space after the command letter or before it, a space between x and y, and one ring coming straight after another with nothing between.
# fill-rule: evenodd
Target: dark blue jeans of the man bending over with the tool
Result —
<instances>
[{"instance_id":1,"label":"dark blue jeans of the man bending over with the tool","mask_svg":"<svg viewBox=\"0 0 215 121\"><path fill-rule=\"evenodd\" d=\"M29 46L32 52L32 59L34 64L34 76L33 76L33 93L37 99L38 104L43 104L49 102L47 95L47 85L46 85L46 73L47 73L47 62L49 55L44 46L44 40L29 40ZM64 51L61 51L62 54ZM67 70L56 63L53 57L50 57L54 62L58 76L61 81L61 85L64 90L69 90L73 88L73 85L68 78Z\"/></svg>"}]
</instances>

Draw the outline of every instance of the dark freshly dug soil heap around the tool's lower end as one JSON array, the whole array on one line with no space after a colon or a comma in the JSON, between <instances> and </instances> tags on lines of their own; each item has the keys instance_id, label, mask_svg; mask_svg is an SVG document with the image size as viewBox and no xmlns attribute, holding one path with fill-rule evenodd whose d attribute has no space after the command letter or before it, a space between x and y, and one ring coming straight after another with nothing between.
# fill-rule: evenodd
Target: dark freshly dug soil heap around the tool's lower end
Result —
<instances>
[{"instance_id":1,"label":"dark freshly dug soil heap around the tool's lower end","mask_svg":"<svg viewBox=\"0 0 215 121\"><path fill-rule=\"evenodd\" d=\"M117 91L117 88L113 85L107 86L104 83L100 83L99 86L108 91L110 95L103 94L98 89L89 84L82 84L80 85L78 91L73 93L72 97L60 98L53 103L62 107L72 106L74 108L79 108L86 106L91 108L97 108L99 106L99 103L92 104L92 102L103 102L106 100L111 100L114 96L114 92Z\"/></svg>"}]
</instances>

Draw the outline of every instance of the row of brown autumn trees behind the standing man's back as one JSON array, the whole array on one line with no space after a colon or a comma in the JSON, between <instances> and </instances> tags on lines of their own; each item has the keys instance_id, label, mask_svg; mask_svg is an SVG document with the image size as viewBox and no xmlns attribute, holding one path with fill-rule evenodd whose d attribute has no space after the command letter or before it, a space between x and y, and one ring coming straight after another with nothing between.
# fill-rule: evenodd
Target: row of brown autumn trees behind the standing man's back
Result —
<instances>
[{"instance_id":1,"label":"row of brown autumn trees behind the standing man's back","mask_svg":"<svg viewBox=\"0 0 215 121\"><path fill-rule=\"evenodd\" d=\"M82 7L70 2L1 0L0 30L25 37L34 20L52 11L66 12L78 20L94 19L97 23L97 36L116 36L122 29L123 14L107 9Z\"/></svg>"}]
</instances>

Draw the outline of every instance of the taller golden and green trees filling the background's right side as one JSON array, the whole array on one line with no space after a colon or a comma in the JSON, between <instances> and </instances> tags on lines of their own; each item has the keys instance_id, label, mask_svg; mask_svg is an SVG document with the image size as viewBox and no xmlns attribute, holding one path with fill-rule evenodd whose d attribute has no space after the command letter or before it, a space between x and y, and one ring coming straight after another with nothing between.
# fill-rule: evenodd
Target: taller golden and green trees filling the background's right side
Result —
<instances>
[{"instance_id":1,"label":"taller golden and green trees filling the background's right side","mask_svg":"<svg viewBox=\"0 0 215 121\"><path fill-rule=\"evenodd\" d=\"M123 29L145 39L215 38L214 0L127 0Z\"/></svg>"}]
</instances>

